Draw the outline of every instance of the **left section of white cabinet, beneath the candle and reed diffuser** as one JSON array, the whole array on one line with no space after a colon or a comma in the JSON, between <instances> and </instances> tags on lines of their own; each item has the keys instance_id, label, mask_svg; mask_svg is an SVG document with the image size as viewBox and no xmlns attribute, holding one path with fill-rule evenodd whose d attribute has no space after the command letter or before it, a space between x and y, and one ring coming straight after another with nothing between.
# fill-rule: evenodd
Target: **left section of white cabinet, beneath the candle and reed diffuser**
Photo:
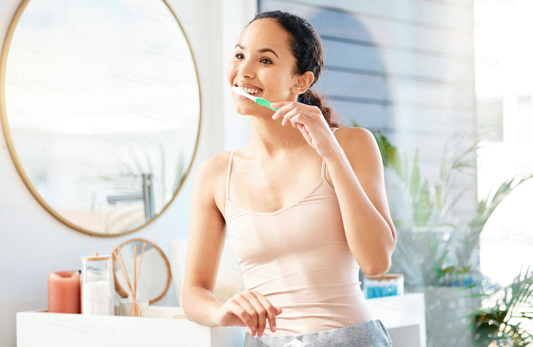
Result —
<instances>
[{"instance_id":1,"label":"left section of white cabinet, beneath the candle and reed diffuser","mask_svg":"<svg viewBox=\"0 0 533 347\"><path fill-rule=\"evenodd\" d=\"M17 312L17 347L235 347L246 327L209 328L183 316L181 307L150 306L148 317Z\"/></svg>"}]
</instances>

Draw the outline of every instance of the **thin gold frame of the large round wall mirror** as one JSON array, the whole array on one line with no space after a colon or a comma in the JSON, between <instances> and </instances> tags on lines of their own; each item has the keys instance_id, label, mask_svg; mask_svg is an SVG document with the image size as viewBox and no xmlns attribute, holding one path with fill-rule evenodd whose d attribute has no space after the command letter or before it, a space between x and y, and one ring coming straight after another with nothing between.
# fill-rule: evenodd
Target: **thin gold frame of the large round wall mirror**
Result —
<instances>
[{"instance_id":1,"label":"thin gold frame of the large round wall mirror","mask_svg":"<svg viewBox=\"0 0 533 347\"><path fill-rule=\"evenodd\" d=\"M181 32L183 33L183 36L185 37L185 41L187 42L187 46L189 47L189 51L193 52L191 45L189 43L189 39L187 38L187 35L185 34L185 31L183 30L183 27L181 26L180 21L177 19L176 14L174 11L172 11L171 7L168 6L168 3L166 0L162 0L165 5L168 7L168 10L174 15L174 18L176 19L177 24L180 26ZM17 12L13 15L13 19L11 20L11 23L9 24L9 28L7 29L7 34L5 36L4 45L2 48L2 53L0 55L0 78L3 79L3 81L0 81L0 123L2 124L2 130L4 133L4 138L7 145L7 150L9 151L9 154L11 155L11 159L13 160L13 164L15 165L15 168L17 169L17 172L19 173L20 178L22 178L22 181L30 191L31 195L35 197L35 199L43 206L43 208L48 211L52 216L54 216L56 219L58 219L63 224L71 227L72 229L78 230L79 232L93 235L93 236L100 236L100 237L115 237L120 235L126 235L133 232L136 232L137 230L140 230L147 225L149 225L151 222L156 220L165 210L170 206L170 204L174 201L177 193L180 191L181 187L183 186L183 182L185 179L187 179L187 176L189 176L189 172L192 167L192 162L195 160L196 156L196 150L198 148L198 139L200 138L200 126L201 126L201 87L200 87L200 79L198 77L198 67L196 64L196 60L194 57L194 54L192 54L192 63L195 66L195 72L196 72L196 80L198 83L198 100L200 101L199 104L199 114L198 114L198 133L196 135L196 144L195 144L195 150L192 153L191 162L189 164L189 168L187 169L187 173L185 173L185 176L183 176L183 179L181 181L181 185L176 189L174 192L174 195L172 196L172 199L165 205L165 207L152 219L150 219L145 224L141 225L140 227L137 227L135 229L132 229L128 232L122 232L122 233L116 233L116 234L102 234L102 233L96 233L92 232L91 230L84 229L82 227L79 227L72 222L68 221L67 219L63 218L58 212L56 212L49 204L46 203L46 201L43 199L39 193L37 193L37 189L35 189L34 185L31 183L31 180L28 178L28 175L26 175L26 171L22 168L22 163L20 162L19 156L17 154L17 151L15 150L14 146L10 145L12 143L11 138L11 130L9 128L9 123L7 122L7 110L6 110L6 103L5 103L5 74L6 74L6 66L7 66L7 54L9 53L9 47L11 47L11 39L13 38L13 34L15 32L15 28L17 27L17 24L22 16L22 13L26 9L26 6L30 0L22 0L22 3L17 8ZM7 49L5 49L7 47ZM148 242L147 242L148 243Z\"/></svg>"}]
</instances>

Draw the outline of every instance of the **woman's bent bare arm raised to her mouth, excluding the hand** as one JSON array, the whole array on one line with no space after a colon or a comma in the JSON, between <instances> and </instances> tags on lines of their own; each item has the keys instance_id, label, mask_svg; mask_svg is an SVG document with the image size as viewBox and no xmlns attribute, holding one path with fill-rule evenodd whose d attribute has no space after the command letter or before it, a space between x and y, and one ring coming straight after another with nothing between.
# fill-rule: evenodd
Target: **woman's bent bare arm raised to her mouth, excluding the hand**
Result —
<instances>
[{"instance_id":1,"label":"woman's bent bare arm raised to her mouth, excluding the hand","mask_svg":"<svg viewBox=\"0 0 533 347\"><path fill-rule=\"evenodd\" d=\"M365 128L344 127L335 135L338 146L325 160L341 206L346 240L365 274L384 274L391 267L396 230L387 205L379 148Z\"/></svg>"}]
</instances>

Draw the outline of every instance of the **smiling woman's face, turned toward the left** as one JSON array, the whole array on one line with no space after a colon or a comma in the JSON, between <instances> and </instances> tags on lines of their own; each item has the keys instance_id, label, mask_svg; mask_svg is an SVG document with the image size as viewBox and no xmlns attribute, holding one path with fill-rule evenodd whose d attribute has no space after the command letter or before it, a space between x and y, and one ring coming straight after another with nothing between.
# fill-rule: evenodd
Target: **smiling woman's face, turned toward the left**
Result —
<instances>
[{"instance_id":1,"label":"smiling woman's face, turned toward the left","mask_svg":"<svg viewBox=\"0 0 533 347\"><path fill-rule=\"evenodd\" d=\"M295 101L305 91L294 86L295 59L288 47L287 33L270 18L256 19L241 34L226 76L232 86L259 89L250 93L270 102ZM296 94L295 94L296 93ZM231 92L235 111L248 115L272 115L274 111L245 96Z\"/></svg>"}]
</instances>

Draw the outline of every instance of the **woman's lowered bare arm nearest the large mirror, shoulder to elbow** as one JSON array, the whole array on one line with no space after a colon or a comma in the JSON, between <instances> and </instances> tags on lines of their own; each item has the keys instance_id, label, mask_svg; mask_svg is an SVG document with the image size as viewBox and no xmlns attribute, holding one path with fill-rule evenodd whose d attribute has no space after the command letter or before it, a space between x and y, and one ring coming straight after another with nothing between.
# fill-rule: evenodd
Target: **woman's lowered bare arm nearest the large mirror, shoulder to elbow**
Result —
<instances>
[{"instance_id":1,"label":"woman's lowered bare arm nearest the large mirror, shoulder to elbow","mask_svg":"<svg viewBox=\"0 0 533 347\"><path fill-rule=\"evenodd\" d=\"M217 156L219 159L217 159ZM189 241L181 294L185 316L200 325L215 327L209 318L211 308L223 303L214 295L220 258L224 249L225 220L215 204L216 176L220 155L206 159L198 167L192 188ZM224 168L227 168L227 163Z\"/></svg>"}]
</instances>

